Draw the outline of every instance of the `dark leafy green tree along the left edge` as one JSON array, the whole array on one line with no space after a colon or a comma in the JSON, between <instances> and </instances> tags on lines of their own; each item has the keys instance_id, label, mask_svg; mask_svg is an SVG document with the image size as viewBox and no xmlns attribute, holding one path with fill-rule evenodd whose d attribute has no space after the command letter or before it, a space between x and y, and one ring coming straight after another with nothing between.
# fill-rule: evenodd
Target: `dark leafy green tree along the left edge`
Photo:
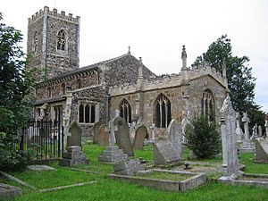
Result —
<instances>
[{"instance_id":1,"label":"dark leafy green tree along the left edge","mask_svg":"<svg viewBox=\"0 0 268 201\"><path fill-rule=\"evenodd\" d=\"M0 21L2 13L0 13ZM0 23L0 169L11 169L27 162L27 154L18 151L19 130L29 120L29 92L33 85L25 71L26 56L18 44L21 31Z\"/></svg>"}]
</instances>

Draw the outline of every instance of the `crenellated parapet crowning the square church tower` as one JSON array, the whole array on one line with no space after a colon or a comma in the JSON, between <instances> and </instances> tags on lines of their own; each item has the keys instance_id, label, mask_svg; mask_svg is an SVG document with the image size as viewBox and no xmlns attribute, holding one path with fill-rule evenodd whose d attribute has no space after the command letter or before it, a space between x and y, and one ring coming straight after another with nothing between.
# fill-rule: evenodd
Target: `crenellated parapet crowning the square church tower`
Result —
<instances>
[{"instance_id":1,"label":"crenellated parapet crowning the square church tower","mask_svg":"<svg viewBox=\"0 0 268 201\"><path fill-rule=\"evenodd\" d=\"M71 21L78 24L80 23L80 16L73 17L71 13L66 15L63 11L61 13L58 13L57 9L53 9L53 11L50 11L49 7L45 6L44 10L40 9L39 12L33 14L31 18L28 19L28 24L37 21L39 18L42 18L45 15L62 19L63 21Z\"/></svg>"}]
</instances>

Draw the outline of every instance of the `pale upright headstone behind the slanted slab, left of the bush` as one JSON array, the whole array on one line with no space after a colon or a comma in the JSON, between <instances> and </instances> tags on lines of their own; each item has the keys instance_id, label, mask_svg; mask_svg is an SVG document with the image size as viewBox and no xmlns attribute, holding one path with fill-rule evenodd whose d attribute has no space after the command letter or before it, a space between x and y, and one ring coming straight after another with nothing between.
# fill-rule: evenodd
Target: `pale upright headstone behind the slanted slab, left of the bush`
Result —
<instances>
[{"instance_id":1,"label":"pale upright headstone behind the slanted slab, left of the bush","mask_svg":"<svg viewBox=\"0 0 268 201\"><path fill-rule=\"evenodd\" d=\"M182 155L182 132L179 123L176 120L172 120L167 128L168 139L172 142L172 145L177 149L178 154Z\"/></svg>"}]
</instances>

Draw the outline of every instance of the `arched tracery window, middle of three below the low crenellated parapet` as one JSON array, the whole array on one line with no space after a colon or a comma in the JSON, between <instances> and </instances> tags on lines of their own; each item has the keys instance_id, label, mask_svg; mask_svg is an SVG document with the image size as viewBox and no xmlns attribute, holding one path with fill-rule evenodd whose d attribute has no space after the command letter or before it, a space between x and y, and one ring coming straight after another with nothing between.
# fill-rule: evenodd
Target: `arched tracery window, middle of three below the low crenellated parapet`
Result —
<instances>
[{"instance_id":1,"label":"arched tracery window, middle of three below the low crenellated parapet","mask_svg":"<svg viewBox=\"0 0 268 201\"><path fill-rule=\"evenodd\" d=\"M172 121L171 101L160 94L155 99L155 126L157 128L167 128L170 121Z\"/></svg>"}]
</instances>

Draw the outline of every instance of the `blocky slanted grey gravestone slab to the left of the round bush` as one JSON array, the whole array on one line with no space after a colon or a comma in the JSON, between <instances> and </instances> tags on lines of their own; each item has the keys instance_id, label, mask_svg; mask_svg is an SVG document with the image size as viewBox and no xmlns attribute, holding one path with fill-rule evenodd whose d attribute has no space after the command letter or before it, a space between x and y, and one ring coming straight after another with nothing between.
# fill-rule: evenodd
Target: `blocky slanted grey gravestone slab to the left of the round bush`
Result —
<instances>
[{"instance_id":1,"label":"blocky slanted grey gravestone slab to the left of the round bush","mask_svg":"<svg viewBox=\"0 0 268 201\"><path fill-rule=\"evenodd\" d=\"M154 142L154 162L163 165L180 163L177 147L174 147L170 141Z\"/></svg>"}]
</instances>

